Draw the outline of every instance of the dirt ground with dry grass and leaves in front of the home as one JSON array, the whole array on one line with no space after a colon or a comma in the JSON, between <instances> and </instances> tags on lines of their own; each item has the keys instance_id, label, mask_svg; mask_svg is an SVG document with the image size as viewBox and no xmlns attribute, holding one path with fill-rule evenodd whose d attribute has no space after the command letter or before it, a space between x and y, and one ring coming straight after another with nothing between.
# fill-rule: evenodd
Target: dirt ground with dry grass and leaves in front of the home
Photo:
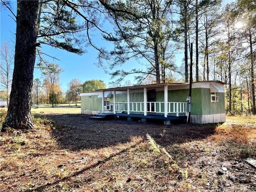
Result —
<instances>
[{"instance_id":1,"label":"dirt ground with dry grass and leaves in front of the home","mask_svg":"<svg viewBox=\"0 0 256 192\"><path fill-rule=\"evenodd\" d=\"M2 134L0 191L256 191L256 169L244 162L256 158L255 117L168 126L46 118Z\"/></svg>"}]
</instances>

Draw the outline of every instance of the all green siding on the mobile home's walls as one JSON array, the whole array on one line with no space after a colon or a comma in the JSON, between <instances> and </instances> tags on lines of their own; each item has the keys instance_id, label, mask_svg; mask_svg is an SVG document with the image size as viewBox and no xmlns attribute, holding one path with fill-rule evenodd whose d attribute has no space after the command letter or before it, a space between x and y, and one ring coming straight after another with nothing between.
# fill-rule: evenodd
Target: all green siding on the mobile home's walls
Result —
<instances>
[{"instance_id":1,"label":"all green siding on the mobile home's walls","mask_svg":"<svg viewBox=\"0 0 256 192\"><path fill-rule=\"evenodd\" d=\"M189 90L173 90L168 91L168 102L186 102ZM225 93L217 93L220 97L219 102L211 102L210 89L195 88L192 89L191 95L191 114L192 115L209 115L225 113ZM102 98L98 98L98 95L82 96L81 108L85 110L101 110ZM110 102L113 103L113 95L110 98ZM127 94L116 94L116 102L127 102ZM130 93L130 102L143 102L143 92ZM156 102L164 102L164 91L156 92ZM163 110L164 105L161 105ZM125 109L127 106L125 106ZM156 104L156 108L159 108L159 104Z\"/></svg>"}]
</instances>

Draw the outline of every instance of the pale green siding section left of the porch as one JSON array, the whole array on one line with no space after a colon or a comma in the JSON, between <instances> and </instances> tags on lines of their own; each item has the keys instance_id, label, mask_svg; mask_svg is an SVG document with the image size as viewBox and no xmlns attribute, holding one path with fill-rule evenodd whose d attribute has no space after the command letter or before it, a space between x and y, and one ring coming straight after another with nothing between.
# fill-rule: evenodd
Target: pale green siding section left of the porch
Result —
<instances>
[{"instance_id":1,"label":"pale green siding section left of the porch","mask_svg":"<svg viewBox=\"0 0 256 192\"><path fill-rule=\"evenodd\" d=\"M98 95L81 96L82 110L102 110L102 98Z\"/></svg>"}]
</instances>

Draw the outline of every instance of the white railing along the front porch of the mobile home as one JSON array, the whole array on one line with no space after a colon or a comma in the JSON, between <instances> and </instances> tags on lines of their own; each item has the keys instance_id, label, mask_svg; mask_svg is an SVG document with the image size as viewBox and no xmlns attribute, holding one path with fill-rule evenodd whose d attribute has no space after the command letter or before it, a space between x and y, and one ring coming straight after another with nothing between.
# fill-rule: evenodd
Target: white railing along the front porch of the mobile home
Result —
<instances>
[{"instance_id":1,"label":"white railing along the front porch of the mobile home","mask_svg":"<svg viewBox=\"0 0 256 192\"><path fill-rule=\"evenodd\" d=\"M147 113L164 113L164 102L146 102ZM114 106L114 103L109 103ZM144 102L130 102L130 112L142 113L144 112ZM116 111L127 111L127 102L116 102ZM186 102L167 102L167 113L179 116L180 113L186 113ZM187 113L186 113L187 114Z\"/></svg>"}]
</instances>

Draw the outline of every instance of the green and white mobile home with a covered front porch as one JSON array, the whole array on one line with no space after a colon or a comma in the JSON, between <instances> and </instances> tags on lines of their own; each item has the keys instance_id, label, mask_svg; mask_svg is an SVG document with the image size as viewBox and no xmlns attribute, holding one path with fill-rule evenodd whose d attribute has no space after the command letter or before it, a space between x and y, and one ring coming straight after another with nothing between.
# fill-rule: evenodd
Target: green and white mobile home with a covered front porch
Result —
<instances>
[{"instance_id":1,"label":"green and white mobile home with a covered front porch","mask_svg":"<svg viewBox=\"0 0 256 192\"><path fill-rule=\"evenodd\" d=\"M193 82L190 109L187 104L189 83L161 83L114 87L81 93L82 114L113 114L127 118L141 117L186 119L191 111L192 123L223 123L225 83L221 81ZM189 102L189 101L188 101Z\"/></svg>"}]
</instances>

